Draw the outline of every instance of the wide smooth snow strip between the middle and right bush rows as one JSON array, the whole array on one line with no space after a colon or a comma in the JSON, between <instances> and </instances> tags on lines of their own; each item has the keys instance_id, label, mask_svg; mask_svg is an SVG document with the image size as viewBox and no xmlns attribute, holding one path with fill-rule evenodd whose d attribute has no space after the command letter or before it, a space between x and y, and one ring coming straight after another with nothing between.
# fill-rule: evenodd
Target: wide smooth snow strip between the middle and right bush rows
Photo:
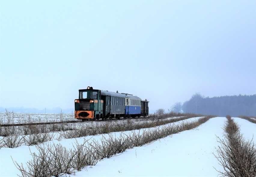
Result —
<instances>
[{"instance_id":1,"label":"wide smooth snow strip between the middle and right bush rows","mask_svg":"<svg viewBox=\"0 0 256 177\"><path fill-rule=\"evenodd\" d=\"M216 135L222 136L224 118L213 118L196 129L128 149L104 159L76 176L217 176Z\"/></svg>"}]
</instances>

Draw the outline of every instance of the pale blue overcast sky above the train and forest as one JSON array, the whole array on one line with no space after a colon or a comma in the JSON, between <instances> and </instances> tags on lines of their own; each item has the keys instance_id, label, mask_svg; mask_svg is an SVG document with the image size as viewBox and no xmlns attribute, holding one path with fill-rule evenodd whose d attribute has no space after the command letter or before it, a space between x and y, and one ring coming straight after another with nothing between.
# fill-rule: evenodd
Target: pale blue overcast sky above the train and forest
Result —
<instances>
[{"instance_id":1,"label":"pale blue overcast sky above the train and forest","mask_svg":"<svg viewBox=\"0 0 256 177\"><path fill-rule=\"evenodd\" d=\"M78 89L151 110L256 94L256 1L0 1L0 107L74 108Z\"/></svg>"}]
</instances>

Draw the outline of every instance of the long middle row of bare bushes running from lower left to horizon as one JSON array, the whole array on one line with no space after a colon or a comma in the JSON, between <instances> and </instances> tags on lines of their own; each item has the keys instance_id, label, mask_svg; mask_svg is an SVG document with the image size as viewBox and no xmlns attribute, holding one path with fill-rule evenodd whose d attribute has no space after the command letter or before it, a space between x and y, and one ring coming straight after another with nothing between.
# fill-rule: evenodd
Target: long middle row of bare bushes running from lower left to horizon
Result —
<instances>
[{"instance_id":1,"label":"long middle row of bare bushes running from lower left to horizon","mask_svg":"<svg viewBox=\"0 0 256 177\"><path fill-rule=\"evenodd\" d=\"M131 131L128 135L121 133L119 137L108 134L108 138L102 135L100 141L93 139L91 142L84 140L83 144L76 142L73 149L66 149L61 144L36 145L37 153L31 153L32 160L26 165L14 161L22 177L50 177L70 175L81 171L87 166L95 165L103 158L124 152L126 149L142 146L159 138L193 129L211 117L200 118L197 121L187 121L178 124L167 124L151 129L143 129L139 132Z\"/></svg>"}]
</instances>

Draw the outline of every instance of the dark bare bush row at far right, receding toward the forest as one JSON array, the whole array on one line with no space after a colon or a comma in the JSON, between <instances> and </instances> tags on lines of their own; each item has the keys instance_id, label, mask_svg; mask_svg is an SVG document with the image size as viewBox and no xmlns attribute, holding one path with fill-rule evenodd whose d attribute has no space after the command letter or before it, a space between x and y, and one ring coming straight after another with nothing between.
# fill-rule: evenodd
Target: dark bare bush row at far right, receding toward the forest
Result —
<instances>
[{"instance_id":1,"label":"dark bare bush row at far right, receding toward the forest","mask_svg":"<svg viewBox=\"0 0 256 177\"><path fill-rule=\"evenodd\" d=\"M218 171L222 176L252 177L256 176L256 147L254 142L246 141L239 131L239 126L227 116L224 125L224 139L218 137L217 154L219 164L224 172Z\"/></svg>"}]
</instances>

